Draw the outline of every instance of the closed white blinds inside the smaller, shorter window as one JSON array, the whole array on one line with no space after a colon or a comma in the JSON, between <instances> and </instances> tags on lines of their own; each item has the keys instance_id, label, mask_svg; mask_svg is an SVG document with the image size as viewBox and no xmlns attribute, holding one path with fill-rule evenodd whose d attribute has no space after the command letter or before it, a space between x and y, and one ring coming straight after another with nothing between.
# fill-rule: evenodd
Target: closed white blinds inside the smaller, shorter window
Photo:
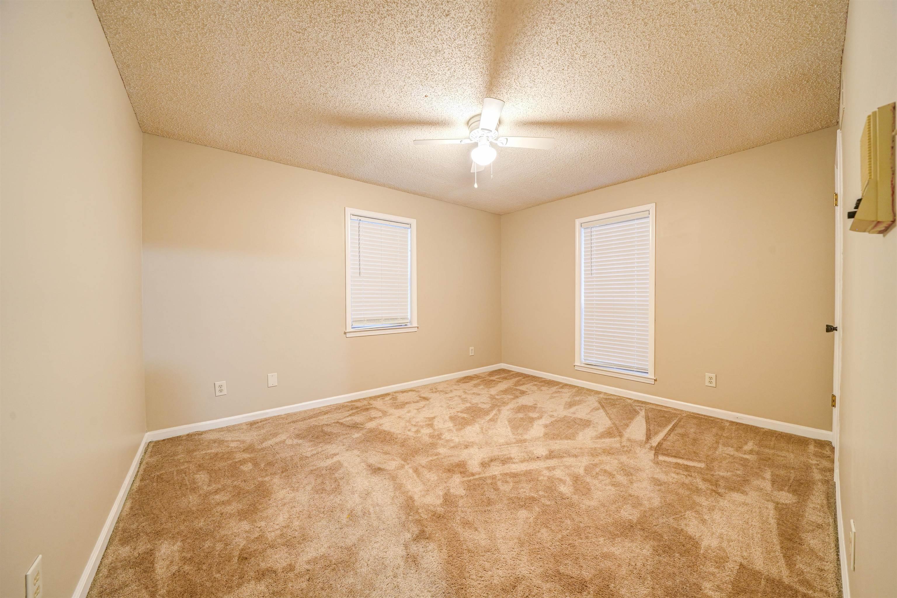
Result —
<instances>
[{"instance_id":1,"label":"closed white blinds inside the smaller, shorter window","mask_svg":"<svg viewBox=\"0 0 897 598\"><path fill-rule=\"evenodd\" d=\"M411 323L411 225L352 214L349 218L351 327Z\"/></svg>"}]
</instances>

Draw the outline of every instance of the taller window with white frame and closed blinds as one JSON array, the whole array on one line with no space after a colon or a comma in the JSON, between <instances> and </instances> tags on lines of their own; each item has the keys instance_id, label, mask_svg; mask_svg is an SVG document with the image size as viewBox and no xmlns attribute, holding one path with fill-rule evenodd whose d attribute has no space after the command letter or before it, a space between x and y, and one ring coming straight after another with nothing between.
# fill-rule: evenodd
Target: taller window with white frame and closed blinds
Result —
<instances>
[{"instance_id":1,"label":"taller window with white frame and closed blinds","mask_svg":"<svg viewBox=\"0 0 897 598\"><path fill-rule=\"evenodd\" d=\"M576 221L580 371L654 384L654 204Z\"/></svg>"}]
</instances>

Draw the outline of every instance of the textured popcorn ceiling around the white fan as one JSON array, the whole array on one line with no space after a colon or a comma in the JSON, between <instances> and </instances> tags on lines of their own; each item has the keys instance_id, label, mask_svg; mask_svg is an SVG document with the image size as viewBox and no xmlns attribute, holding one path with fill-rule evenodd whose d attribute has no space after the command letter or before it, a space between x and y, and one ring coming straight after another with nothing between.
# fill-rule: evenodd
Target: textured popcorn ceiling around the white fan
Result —
<instances>
[{"instance_id":1,"label":"textured popcorn ceiling around the white fan","mask_svg":"<svg viewBox=\"0 0 897 598\"><path fill-rule=\"evenodd\" d=\"M144 132L506 213L837 122L847 0L94 0ZM500 148L473 186L484 96Z\"/></svg>"}]
</instances>

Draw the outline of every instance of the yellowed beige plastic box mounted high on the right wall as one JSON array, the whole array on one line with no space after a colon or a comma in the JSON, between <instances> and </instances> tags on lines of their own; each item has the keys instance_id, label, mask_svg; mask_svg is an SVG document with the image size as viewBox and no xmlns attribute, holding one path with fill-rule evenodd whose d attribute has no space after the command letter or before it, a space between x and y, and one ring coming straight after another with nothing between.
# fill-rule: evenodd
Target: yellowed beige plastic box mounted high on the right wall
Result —
<instances>
[{"instance_id":1,"label":"yellowed beige plastic box mounted high on the right wall","mask_svg":"<svg viewBox=\"0 0 897 598\"><path fill-rule=\"evenodd\" d=\"M878 108L866 117L859 141L863 197L850 230L883 233L894 223L894 108Z\"/></svg>"}]
</instances>

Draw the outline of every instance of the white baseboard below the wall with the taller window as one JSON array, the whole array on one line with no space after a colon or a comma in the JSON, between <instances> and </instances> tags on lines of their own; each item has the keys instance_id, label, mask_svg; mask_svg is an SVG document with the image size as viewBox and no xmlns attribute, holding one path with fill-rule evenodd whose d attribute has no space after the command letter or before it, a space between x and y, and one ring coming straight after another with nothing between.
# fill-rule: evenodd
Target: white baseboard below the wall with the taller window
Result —
<instances>
[{"instance_id":1,"label":"white baseboard below the wall with the taller window","mask_svg":"<svg viewBox=\"0 0 897 598\"><path fill-rule=\"evenodd\" d=\"M625 390L623 388L615 388L614 386L605 386L603 384L596 384L595 382L586 382L585 380L578 380L577 378L558 376L557 374L549 374L548 372L542 372L537 369L511 366L507 363L502 363L500 367L513 369L516 372L529 374L530 376L548 378L549 380L563 382L564 384L582 386L583 388L590 388L592 390L600 390L604 393L619 394L620 396L625 396L626 398L630 399L636 399L638 401L644 401L645 403L655 403L658 405L665 405L666 407L675 407L675 409L681 409L684 412L701 413L702 415L710 415L711 417L719 418L720 420L740 421L741 423L750 424L759 428L775 429L779 432L788 432L788 434L797 434L797 436L817 438L819 440L828 440L829 442L832 442L832 432L827 429L808 428L807 426L798 426L797 424L788 423L785 421L767 420L766 418L759 418L753 415L745 415L744 413L727 412L722 409L716 409L715 407L705 407L703 405L696 405L694 403L683 403L682 401L665 399L660 396L654 396L653 394L637 393L635 391Z\"/></svg>"}]
</instances>

